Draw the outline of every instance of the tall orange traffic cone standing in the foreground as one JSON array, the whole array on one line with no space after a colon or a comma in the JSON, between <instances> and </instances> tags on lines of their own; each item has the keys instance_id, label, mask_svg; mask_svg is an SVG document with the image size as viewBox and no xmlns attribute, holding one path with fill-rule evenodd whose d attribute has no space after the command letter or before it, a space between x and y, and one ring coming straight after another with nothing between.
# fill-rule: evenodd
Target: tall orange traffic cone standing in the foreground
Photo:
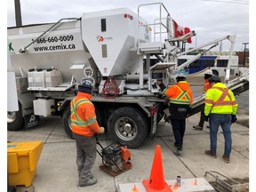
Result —
<instances>
[{"instance_id":1,"label":"tall orange traffic cone standing in the foreground","mask_svg":"<svg viewBox=\"0 0 256 192\"><path fill-rule=\"evenodd\" d=\"M172 188L164 180L162 154L160 145L156 145L155 157L151 168L149 180L142 180L144 188L150 191L172 192Z\"/></svg>"}]
</instances>

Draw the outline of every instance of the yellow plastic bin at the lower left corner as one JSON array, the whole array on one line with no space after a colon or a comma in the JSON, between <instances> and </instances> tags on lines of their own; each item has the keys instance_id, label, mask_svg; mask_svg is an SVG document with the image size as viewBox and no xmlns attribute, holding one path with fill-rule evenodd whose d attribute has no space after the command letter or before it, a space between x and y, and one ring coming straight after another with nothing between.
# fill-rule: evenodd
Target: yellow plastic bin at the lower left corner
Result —
<instances>
[{"instance_id":1,"label":"yellow plastic bin at the lower left corner","mask_svg":"<svg viewBox=\"0 0 256 192\"><path fill-rule=\"evenodd\" d=\"M36 164L43 149L43 141L7 143L7 171L10 186L32 184Z\"/></svg>"}]
</instances>

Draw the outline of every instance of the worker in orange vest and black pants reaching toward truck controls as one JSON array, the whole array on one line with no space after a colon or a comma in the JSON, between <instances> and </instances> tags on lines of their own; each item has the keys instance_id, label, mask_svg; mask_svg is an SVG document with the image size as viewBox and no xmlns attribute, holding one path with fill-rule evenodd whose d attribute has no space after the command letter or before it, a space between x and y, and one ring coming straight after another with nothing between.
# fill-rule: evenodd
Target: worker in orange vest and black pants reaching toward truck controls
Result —
<instances>
[{"instance_id":1,"label":"worker in orange vest and black pants reaching toward truck controls","mask_svg":"<svg viewBox=\"0 0 256 192\"><path fill-rule=\"evenodd\" d=\"M193 101L192 91L189 88L186 77L180 73L176 77L177 84L166 88L161 81L156 81L162 92L169 98L169 110L171 114L172 132L175 139L176 155L181 156L183 153L183 137L186 129L186 118Z\"/></svg>"}]
</instances>

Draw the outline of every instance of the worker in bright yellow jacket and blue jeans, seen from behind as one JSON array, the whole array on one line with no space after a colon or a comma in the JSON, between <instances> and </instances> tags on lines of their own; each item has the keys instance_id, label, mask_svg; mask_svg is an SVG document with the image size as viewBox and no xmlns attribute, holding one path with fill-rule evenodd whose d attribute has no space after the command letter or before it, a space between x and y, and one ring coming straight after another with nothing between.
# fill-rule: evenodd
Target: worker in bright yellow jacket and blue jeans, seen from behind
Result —
<instances>
[{"instance_id":1,"label":"worker in bright yellow jacket and blue jeans, seen from behind","mask_svg":"<svg viewBox=\"0 0 256 192\"><path fill-rule=\"evenodd\" d=\"M225 84L220 83L219 76L212 76L209 83L211 88L206 92L204 118L206 122L209 119L211 149L205 150L205 154L214 158L217 157L217 133L221 126L225 139L222 159L229 164L232 148L230 125L237 120L236 109L238 105L233 92Z\"/></svg>"}]
</instances>

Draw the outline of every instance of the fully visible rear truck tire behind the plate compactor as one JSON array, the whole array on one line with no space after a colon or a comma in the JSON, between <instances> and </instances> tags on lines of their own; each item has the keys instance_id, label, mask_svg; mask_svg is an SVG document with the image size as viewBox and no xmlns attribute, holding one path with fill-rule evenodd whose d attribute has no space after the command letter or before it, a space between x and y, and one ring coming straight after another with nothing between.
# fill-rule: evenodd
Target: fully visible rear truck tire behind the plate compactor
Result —
<instances>
[{"instance_id":1,"label":"fully visible rear truck tire behind the plate compactor","mask_svg":"<svg viewBox=\"0 0 256 192\"><path fill-rule=\"evenodd\" d=\"M148 136L147 116L136 108L116 109L108 119L108 132L128 148L138 148Z\"/></svg>"}]
</instances>

